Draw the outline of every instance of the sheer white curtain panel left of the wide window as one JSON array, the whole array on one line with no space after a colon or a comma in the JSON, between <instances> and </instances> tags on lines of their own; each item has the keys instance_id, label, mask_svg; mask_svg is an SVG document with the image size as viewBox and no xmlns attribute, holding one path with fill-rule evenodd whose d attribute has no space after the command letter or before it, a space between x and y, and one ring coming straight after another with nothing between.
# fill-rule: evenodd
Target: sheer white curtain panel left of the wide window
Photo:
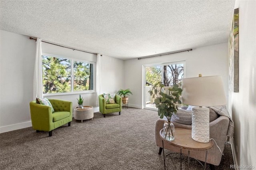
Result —
<instances>
[{"instance_id":1,"label":"sheer white curtain panel left of the wide window","mask_svg":"<svg viewBox=\"0 0 256 170\"><path fill-rule=\"evenodd\" d=\"M43 97L43 74L42 74L42 47L41 47L41 38L36 40L36 60L34 68L34 91L33 99L36 100L36 97Z\"/></svg>"}]
</instances>

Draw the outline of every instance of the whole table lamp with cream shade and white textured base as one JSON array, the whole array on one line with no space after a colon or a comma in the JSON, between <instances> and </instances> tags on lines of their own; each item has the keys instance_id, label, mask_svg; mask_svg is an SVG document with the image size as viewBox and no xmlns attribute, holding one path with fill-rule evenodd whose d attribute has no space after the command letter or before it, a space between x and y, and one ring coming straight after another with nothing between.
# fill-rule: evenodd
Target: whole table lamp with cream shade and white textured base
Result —
<instances>
[{"instance_id":1,"label":"whole table lamp with cream shade and white textured base","mask_svg":"<svg viewBox=\"0 0 256 170\"><path fill-rule=\"evenodd\" d=\"M192 105L192 139L209 142L208 106L226 105L221 76L206 76L182 79L182 103ZM205 107L203 107L205 106Z\"/></svg>"}]
</instances>

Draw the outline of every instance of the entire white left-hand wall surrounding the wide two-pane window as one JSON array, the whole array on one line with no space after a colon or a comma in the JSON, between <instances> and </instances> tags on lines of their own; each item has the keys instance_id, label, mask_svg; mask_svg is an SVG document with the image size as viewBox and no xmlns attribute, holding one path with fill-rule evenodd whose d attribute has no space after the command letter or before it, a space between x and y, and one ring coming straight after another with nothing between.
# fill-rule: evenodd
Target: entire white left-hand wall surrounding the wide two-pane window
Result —
<instances>
[{"instance_id":1,"label":"entire white left-hand wall surrounding the wide two-pane window","mask_svg":"<svg viewBox=\"0 0 256 170\"><path fill-rule=\"evenodd\" d=\"M29 103L33 99L33 76L36 42L28 36L0 30L0 133L31 127ZM74 59L96 61L96 55L42 43L42 52ZM101 92L116 93L124 87L124 61L108 56L101 59ZM95 68L96 69L96 68ZM98 111L96 93L81 94L84 105ZM78 94L47 96L77 104Z\"/></svg>"}]
</instances>

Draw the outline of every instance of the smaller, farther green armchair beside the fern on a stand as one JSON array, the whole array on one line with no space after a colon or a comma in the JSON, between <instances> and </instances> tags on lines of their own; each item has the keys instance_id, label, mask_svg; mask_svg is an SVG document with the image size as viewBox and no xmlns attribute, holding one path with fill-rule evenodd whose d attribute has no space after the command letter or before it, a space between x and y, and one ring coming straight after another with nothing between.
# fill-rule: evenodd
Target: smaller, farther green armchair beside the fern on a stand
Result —
<instances>
[{"instance_id":1,"label":"smaller, farther green armchair beside the fern on a stand","mask_svg":"<svg viewBox=\"0 0 256 170\"><path fill-rule=\"evenodd\" d=\"M122 111L122 97L116 95L115 96L115 104L106 104L106 100L104 99L103 95L99 95L99 106L100 106L100 113L106 117L107 113L114 113L119 112L121 115Z\"/></svg>"}]
</instances>

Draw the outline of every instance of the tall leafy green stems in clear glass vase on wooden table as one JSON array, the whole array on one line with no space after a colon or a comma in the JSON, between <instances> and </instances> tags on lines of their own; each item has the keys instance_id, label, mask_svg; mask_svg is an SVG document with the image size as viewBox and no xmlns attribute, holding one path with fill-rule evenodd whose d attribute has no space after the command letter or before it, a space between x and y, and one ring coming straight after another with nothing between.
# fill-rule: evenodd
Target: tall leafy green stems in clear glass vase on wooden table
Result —
<instances>
[{"instance_id":1,"label":"tall leafy green stems in clear glass vase on wooden table","mask_svg":"<svg viewBox=\"0 0 256 170\"><path fill-rule=\"evenodd\" d=\"M176 114L178 111L178 104L181 104L180 95L182 89L174 84L172 88L168 90L171 92L169 95L164 93L164 84L162 82L156 83L149 91L150 95L155 98L154 103L158 108L158 116L163 119L167 118L167 122L164 123L164 137L167 140L174 140L174 125L171 123L172 114Z\"/></svg>"}]
</instances>

